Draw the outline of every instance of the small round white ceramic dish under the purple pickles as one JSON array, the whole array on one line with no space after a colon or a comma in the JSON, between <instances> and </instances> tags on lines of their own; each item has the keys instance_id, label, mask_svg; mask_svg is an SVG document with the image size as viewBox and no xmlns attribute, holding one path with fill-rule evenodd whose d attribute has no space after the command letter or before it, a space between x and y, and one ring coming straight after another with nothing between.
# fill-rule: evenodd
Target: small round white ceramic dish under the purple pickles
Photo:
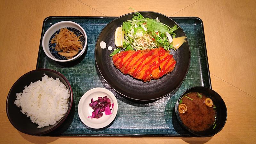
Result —
<instances>
[{"instance_id":1,"label":"small round white ceramic dish under the purple pickles","mask_svg":"<svg viewBox=\"0 0 256 144\"><path fill-rule=\"evenodd\" d=\"M97 100L98 97L107 96L111 104L114 103L114 107L111 110L111 115L105 115L103 112L103 116L100 118L90 118L88 116L92 116L93 109L89 106L91 103L91 99ZM112 106L111 106L112 107ZM78 115L81 121L88 127L94 129L100 129L108 126L116 117L118 109L118 104L115 95L105 88L93 88L84 93L82 98L78 103Z\"/></svg>"}]
</instances>

